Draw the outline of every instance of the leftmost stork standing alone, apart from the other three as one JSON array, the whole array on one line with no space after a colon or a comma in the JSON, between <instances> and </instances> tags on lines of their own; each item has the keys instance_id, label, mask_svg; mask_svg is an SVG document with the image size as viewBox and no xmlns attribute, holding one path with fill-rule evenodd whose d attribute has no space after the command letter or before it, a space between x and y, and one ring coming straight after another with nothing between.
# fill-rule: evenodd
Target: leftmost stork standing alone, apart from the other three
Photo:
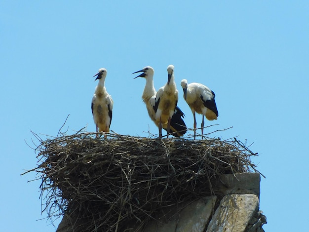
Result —
<instances>
[{"instance_id":1,"label":"leftmost stork standing alone, apart from the other three","mask_svg":"<svg viewBox=\"0 0 309 232\"><path fill-rule=\"evenodd\" d=\"M99 69L99 72L93 76L96 77L95 80L99 80L91 101L91 111L96 125L96 132L110 132L112 122L114 102L104 86L106 74L106 69Z\"/></svg>"}]
</instances>

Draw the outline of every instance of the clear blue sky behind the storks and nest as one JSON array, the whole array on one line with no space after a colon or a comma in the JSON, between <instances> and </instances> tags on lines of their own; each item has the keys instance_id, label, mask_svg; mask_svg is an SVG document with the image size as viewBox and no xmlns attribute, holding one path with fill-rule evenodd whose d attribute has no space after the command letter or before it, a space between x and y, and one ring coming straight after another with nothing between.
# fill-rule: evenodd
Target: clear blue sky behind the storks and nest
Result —
<instances>
[{"instance_id":1,"label":"clear blue sky behind the storks and nest","mask_svg":"<svg viewBox=\"0 0 309 232\"><path fill-rule=\"evenodd\" d=\"M56 136L86 126L99 68L114 99L111 129L145 136L157 128L141 100L143 78L156 89L175 66L179 107L193 116L180 81L216 93L212 136L238 136L259 157L266 231L304 231L308 222L309 1L0 1L0 221L3 231L54 232L40 214L30 130ZM201 116L197 116L200 124ZM42 220L39 220L42 219ZM39 220L39 221L38 221ZM59 220L55 222L58 226Z\"/></svg>"}]
</instances>

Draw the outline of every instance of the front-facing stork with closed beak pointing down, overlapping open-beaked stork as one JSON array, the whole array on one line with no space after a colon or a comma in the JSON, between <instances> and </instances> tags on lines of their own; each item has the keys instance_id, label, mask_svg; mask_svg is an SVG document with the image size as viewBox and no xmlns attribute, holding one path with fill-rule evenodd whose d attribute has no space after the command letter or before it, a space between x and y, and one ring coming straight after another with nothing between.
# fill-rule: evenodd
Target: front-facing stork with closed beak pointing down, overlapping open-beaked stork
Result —
<instances>
[{"instance_id":1,"label":"front-facing stork with closed beak pointing down, overlapping open-beaked stork","mask_svg":"<svg viewBox=\"0 0 309 232\"><path fill-rule=\"evenodd\" d=\"M151 99L154 106L155 122L159 124L159 138L162 137L162 124L167 122L167 131L170 130L171 118L178 102L178 90L174 80L174 66L167 67L168 79L167 83L159 88L155 98ZM167 134L168 138L168 134Z\"/></svg>"}]
</instances>

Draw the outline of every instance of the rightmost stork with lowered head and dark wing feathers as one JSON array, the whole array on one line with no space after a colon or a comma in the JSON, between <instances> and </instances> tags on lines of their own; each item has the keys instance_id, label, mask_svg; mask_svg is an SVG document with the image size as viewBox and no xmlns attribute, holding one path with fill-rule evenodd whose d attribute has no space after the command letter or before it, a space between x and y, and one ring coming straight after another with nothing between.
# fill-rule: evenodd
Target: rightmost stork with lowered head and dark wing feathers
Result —
<instances>
[{"instance_id":1,"label":"rightmost stork with lowered head and dark wing feathers","mask_svg":"<svg viewBox=\"0 0 309 232\"><path fill-rule=\"evenodd\" d=\"M181 81L181 87L184 90L184 99L188 103L193 113L194 139L196 134L195 112L202 115L201 130L203 135L204 116L208 120L215 120L219 116L215 102L215 93L207 86L199 83L190 83L186 79Z\"/></svg>"}]
</instances>

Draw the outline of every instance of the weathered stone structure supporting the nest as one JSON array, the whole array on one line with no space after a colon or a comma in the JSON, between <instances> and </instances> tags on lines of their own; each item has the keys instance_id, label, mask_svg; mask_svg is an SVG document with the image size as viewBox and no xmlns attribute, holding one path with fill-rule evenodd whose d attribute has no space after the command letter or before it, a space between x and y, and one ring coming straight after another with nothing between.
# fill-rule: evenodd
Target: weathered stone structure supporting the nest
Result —
<instances>
[{"instance_id":1,"label":"weathered stone structure supporting the nest","mask_svg":"<svg viewBox=\"0 0 309 232\"><path fill-rule=\"evenodd\" d=\"M132 222L126 232L264 232L259 211L260 174L223 175L212 183L214 195L162 210L147 225ZM64 216L57 232L71 232Z\"/></svg>"}]
</instances>

